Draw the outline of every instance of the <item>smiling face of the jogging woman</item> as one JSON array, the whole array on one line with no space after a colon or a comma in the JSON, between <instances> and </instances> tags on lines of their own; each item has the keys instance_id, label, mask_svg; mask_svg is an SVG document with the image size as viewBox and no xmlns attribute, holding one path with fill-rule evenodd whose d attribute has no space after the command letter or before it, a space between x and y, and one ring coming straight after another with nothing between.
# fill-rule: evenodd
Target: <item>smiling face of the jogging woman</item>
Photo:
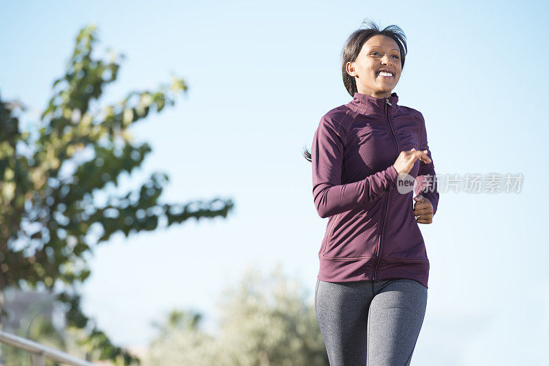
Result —
<instances>
[{"instance_id":1,"label":"smiling face of the jogging woman","mask_svg":"<svg viewBox=\"0 0 549 366\"><path fill-rule=\"evenodd\" d=\"M402 71L397 42L388 36L376 34L362 45L355 62L347 62L347 73L355 77L358 93L375 98L390 97ZM380 75L386 69L388 74Z\"/></svg>"}]
</instances>

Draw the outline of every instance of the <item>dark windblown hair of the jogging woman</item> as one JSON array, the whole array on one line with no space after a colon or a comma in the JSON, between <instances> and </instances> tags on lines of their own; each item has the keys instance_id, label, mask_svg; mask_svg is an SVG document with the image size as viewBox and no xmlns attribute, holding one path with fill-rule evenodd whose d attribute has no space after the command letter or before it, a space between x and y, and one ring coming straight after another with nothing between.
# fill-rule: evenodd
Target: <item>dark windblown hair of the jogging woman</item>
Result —
<instances>
[{"instance_id":1,"label":"dark windblown hair of the jogging woman","mask_svg":"<svg viewBox=\"0 0 549 366\"><path fill-rule=\"evenodd\" d=\"M366 27L363 27L364 25ZM364 19L360 28L351 33L351 35L347 38L343 50L341 51L343 84L351 97L353 97L358 90L356 87L355 77L347 73L347 62L355 62L362 46L364 46L364 43L377 34L388 36L397 42L400 50L401 69L404 69L404 60L406 59L408 48L406 46L406 35L402 29L398 25L388 25L383 30L379 30L379 27L375 24L375 22ZM305 156L305 159L309 162L311 161L311 153L306 147L303 148L303 156Z\"/></svg>"}]
</instances>

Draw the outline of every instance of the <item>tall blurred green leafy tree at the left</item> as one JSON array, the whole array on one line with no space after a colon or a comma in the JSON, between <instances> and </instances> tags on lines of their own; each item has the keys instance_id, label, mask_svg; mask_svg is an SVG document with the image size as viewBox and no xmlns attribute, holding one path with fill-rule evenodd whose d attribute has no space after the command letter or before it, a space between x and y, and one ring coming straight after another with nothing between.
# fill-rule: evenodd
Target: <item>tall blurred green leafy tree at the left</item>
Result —
<instances>
[{"instance_id":1,"label":"tall blurred green leafy tree at the left","mask_svg":"<svg viewBox=\"0 0 549 366\"><path fill-rule=\"evenodd\" d=\"M133 141L130 126L150 111L173 106L187 84L172 75L158 90L132 91L118 103L100 106L124 55L108 49L110 60L94 58L95 42L95 25L80 29L67 71L54 82L34 127L22 131L19 119L27 108L0 97L0 291L62 289L58 299L69 306L67 326L88 334L83 346L100 359L129 365L139 360L113 345L80 308L77 285L90 274L85 254L117 231L128 236L161 223L226 217L233 202L162 203L168 176L157 172L137 190L117 193L121 174L130 175L151 151L148 143ZM106 197L103 203L100 196Z\"/></svg>"}]
</instances>

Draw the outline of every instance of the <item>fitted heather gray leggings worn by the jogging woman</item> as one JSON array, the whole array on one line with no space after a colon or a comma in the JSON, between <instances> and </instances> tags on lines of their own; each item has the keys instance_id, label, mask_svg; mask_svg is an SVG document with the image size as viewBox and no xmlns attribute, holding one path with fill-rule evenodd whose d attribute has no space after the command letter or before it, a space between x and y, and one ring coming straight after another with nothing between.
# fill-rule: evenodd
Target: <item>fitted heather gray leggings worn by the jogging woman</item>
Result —
<instances>
[{"instance_id":1,"label":"fitted heather gray leggings worn by the jogging woman","mask_svg":"<svg viewBox=\"0 0 549 366\"><path fill-rule=\"evenodd\" d=\"M427 306L423 284L317 278L314 302L331 366L410 365Z\"/></svg>"}]
</instances>

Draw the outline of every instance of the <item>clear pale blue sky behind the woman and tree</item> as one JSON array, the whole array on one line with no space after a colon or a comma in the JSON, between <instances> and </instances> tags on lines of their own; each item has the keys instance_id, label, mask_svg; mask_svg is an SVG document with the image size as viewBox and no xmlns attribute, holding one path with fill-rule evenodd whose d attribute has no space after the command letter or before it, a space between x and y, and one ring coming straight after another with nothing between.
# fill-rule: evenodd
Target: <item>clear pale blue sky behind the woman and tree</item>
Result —
<instances>
[{"instance_id":1,"label":"clear pale blue sky behind the woman and tree","mask_svg":"<svg viewBox=\"0 0 549 366\"><path fill-rule=\"evenodd\" d=\"M369 18L408 37L399 103L425 116L437 174L522 173L518 194L441 193L421 225L431 269L418 365L536 365L549 351L549 9L530 1L12 1L0 12L0 92L45 108L80 27L125 53L103 103L170 73L188 97L133 128L152 144L143 171L170 174L163 199L232 197L228 219L187 222L95 250L84 309L113 341L146 343L152 320L215 299L244 269L280 261L311 301L326 220L312 199L320 117L350 97L345 38Z\"/></svg>"}]
</instances>

